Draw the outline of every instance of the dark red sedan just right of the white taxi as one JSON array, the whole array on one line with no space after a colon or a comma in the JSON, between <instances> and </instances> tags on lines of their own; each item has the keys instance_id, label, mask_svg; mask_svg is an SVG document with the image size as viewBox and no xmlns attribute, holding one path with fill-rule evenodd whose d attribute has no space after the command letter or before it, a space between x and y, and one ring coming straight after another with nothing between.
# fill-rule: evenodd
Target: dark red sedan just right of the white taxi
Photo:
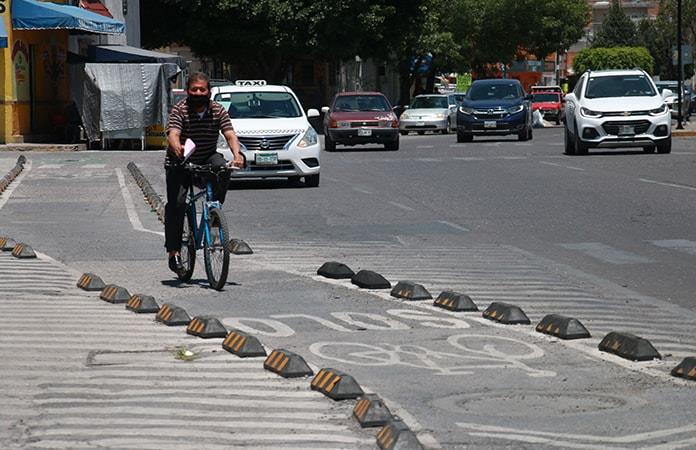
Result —
<instances>
[{"instance_id":1,"label":"dark red sedan just right of the white taxi","mask_svg":"<svg viewBox=\"0 0 696 450\"><path fill-rule=\"evenodd\" d=\"M387 150L399 149L399 120L384 94L342 92L336 94L324 113L324 149L336 145L383 144Z\"/></svg>"}]
</instances>

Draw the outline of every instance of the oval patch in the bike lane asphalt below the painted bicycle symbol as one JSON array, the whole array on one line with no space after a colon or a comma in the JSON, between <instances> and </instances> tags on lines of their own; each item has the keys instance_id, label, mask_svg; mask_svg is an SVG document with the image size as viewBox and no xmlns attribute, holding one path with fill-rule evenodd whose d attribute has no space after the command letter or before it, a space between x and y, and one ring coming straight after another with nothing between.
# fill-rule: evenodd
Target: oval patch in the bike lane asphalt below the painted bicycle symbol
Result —
<instances>
[{"instance_id":1,"label":"oval patch in the bike lane asphalt below the painted bicycle symbol","mask_svg":"<svg viewBox=\"0 0 696 450\"><path fill-rule=\"evenodd\" d=\"M434 401L439 408L457 414L495 417L557 417L621 409L629 402L618 396L578 392L477 393Z\"/></svg>"}]
</instances>

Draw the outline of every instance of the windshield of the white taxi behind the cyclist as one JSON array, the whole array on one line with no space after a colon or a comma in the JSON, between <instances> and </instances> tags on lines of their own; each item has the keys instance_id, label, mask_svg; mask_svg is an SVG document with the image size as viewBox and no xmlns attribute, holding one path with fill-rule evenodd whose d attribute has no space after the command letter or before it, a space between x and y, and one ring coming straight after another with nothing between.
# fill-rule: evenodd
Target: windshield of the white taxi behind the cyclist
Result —
<instances>
[{"instance_id":1,"label":"windshield of the white taxi behind the cyclist","mask_svg":"<svg viewBox=\"0 0 696 450\"><path fill-rule=\"evenodd\" d=\"M295 97L287 92L222 92L213 100L227 109L231 119L302 117Z\"/></svg>"}]
</instances>

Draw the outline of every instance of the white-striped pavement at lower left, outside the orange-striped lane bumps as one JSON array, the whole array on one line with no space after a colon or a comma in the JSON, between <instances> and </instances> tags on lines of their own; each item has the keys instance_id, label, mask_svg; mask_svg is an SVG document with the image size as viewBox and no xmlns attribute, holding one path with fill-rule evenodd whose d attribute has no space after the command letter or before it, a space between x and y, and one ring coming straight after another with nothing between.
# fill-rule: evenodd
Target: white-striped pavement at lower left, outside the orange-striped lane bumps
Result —
<instances>
[{"instance_id":1,"label":"white-striped pavement at lower left, outside the orange-striped lane bumps","mask_svg":"<svg viewBox=\"0 0 696 450\"><path fill-rule=\"evenodd\" d=\"M77 275L0 252L0 448L375 448L354 402L102 301Z\"/></svg>"}]
</instances>

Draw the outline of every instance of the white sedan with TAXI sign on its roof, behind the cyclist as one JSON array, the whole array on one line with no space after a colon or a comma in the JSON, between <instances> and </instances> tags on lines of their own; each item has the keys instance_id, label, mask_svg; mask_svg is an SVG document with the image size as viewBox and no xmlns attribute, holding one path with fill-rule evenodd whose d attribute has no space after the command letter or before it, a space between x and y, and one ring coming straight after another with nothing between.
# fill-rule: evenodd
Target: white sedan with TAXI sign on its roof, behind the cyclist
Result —
<instances>
[{"instance_id":1,"label":"white sedan with TAXI sign on its roof, behind the cyclist","mask_svg":"<svg viewBox=\"0 0 696 450\"><path fill-rule=\"evenodd\" d=\"M305 114L292 89L263 80L215 86L211 96L227 109L247 160L247 168L233 171L233 178L304 177L305 186L319 186L321 144L308 121L319 117L318 110ZM232 159L222 134L218 153Z\"/></svg>"}]
</instances>

